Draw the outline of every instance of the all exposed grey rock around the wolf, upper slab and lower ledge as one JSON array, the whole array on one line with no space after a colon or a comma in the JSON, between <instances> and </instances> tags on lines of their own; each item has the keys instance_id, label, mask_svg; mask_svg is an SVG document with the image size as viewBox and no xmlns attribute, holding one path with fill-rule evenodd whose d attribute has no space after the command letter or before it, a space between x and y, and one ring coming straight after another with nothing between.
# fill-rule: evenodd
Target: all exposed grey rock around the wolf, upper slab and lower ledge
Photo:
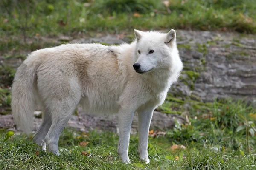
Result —
<instances>
[{"instance_id":1,"label":"all exposed grey rock around the wolf, upper slab and lower ledge","mask_svg":"<svg viewBox=\"0 0 256 170\"><path fill-rule=\"evenodd\" d=\"M72 38L60 37L59 40ZM117 35L101 37L81 37L70 43L101 42L121 44L131 38ZM180 79L169 93L183 99L196 98L202 102L212 102L215 98L231 97L255 101L256 96L256 35L222 33L210 31L177 30L177 44L184 70ZM1 57L0 57L1 58ZM10 65L20 65L21 61L9 61ZM13 63L12 63L13 62ZM192 71L198 77L189 77ZM189 108L189 106L188 106ZM93 116L78 109L79 116L73 115L69 121L71 127L87 131L90 129L116 131L117 116ZM174 119L184 122L183 116L154 112L151 128L170 129ZM41 119L35 118L34 130ZM136 133L137 116L134 116L132 133ZM0 115L0 128L14 128L11 115Z\"/></svg>"}]
</instances>

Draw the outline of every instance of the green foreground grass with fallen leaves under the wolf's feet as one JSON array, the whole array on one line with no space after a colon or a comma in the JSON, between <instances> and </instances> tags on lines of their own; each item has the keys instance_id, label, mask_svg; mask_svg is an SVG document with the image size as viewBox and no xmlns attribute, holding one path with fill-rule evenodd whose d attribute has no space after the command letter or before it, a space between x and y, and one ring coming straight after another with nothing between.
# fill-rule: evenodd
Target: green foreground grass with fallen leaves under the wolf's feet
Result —
<instances>
[{"instance_id":1,"label":"green foreground grass with fallen leaves under the wolf's feet","mask_svg":"<svg viewBox=\"0 0 256 170\"><path fill-rule=\"evenodd\" d=\"M189 122L176 122L165 136L149 138L148 165L141 163L137 154L137 135L131 135L131 164L127 165L119 160L116 134L66 128L59 141L59 157L37 152L32 136L15 135L5 140L6 130L0 130L0 169L255 170L255 109L231 100L201 105L210 110L192 111ZM81 147L80 142L89 143ZM173 149L173 144L186 148Z\"/></svg>"}]
</instances>

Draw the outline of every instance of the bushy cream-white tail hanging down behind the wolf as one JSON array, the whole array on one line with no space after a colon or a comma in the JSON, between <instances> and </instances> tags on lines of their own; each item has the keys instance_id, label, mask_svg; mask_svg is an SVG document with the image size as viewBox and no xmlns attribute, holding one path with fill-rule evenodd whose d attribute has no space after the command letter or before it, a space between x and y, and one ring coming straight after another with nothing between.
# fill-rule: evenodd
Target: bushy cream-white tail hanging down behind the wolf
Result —
<instances>
[{"instance_id":1,"label":"bushy cream-white tail hanging down behind the wolf","mask_svg":"<svg viewBox=\"0 0 256 170\"><path fill-rule=\"evenodd\" d=\"M23 132L31 133L35 111L36 68L20 65L12 84L12 115Z\"/></svg>"}]
</instances>

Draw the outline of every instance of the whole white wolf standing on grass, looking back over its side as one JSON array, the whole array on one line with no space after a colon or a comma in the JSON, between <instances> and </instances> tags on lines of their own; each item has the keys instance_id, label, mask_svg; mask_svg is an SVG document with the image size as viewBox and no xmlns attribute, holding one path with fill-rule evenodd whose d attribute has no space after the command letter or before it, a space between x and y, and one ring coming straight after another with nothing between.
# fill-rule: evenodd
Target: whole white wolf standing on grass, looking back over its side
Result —
<instances>
[{"instance_id":1,"label":"whole white wolf standing on grass, looking back over its side","mask_svg":"<svg viewBox=\"0 0 256 170\"><path fill-rule=\"evenodd\" d=\"M44 150L59 155L58 140L77 105L88 113L119 113L118 154L129 163L128 145L134 112L139 117L140 159L149 163L148 130L154 109L179 77L176 33L134 30L131 44L67 44L29 54L12 85L12 114L29 133L35 101L43 123L34 137Z\"/></svg>"}]
</instances>

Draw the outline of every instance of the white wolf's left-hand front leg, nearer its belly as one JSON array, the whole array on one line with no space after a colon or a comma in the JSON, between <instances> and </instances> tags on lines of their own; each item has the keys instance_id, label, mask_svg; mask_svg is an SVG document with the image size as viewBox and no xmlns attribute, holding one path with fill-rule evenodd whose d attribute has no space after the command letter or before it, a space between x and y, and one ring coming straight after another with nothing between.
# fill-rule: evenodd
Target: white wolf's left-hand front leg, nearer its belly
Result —
<instances>
[{"instance_id":1,"label":"white wolf's left-hand front leg, nearer its belly","mask_svg":"<svg viewBox=\"0 0 256 170\"><path fill-rule=\"evenodd\" d=\"M117 152L123 163L130 163L128 156L128 147L131 133L131 122L134 116L134 111L130 109L119 110L119 143Z\"/></svg>"}]
</instances>

